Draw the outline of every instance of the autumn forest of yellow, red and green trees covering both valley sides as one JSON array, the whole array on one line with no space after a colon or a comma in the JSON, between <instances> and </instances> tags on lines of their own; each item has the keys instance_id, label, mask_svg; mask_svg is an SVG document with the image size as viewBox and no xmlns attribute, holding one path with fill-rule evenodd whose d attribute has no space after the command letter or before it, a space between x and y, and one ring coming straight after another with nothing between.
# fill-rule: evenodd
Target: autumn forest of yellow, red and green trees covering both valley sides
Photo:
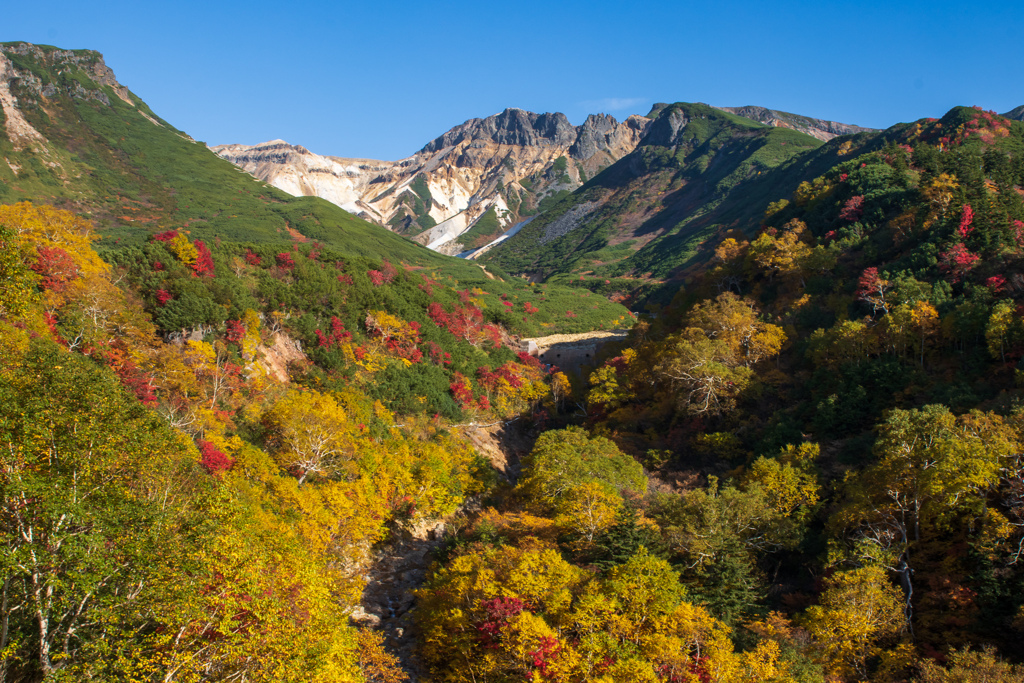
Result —
<instances>
[{"instance_id":1,"label":"autumn forest of yellow, red and green trees covering both valley sides","mask_svg":"<svg viewBox=\"0 0 1024 683\"><path fill-rule=\"evenodd\" d=\"M1024 124L825 147L637 321L237 184L0 206L0 682L407 680L350 616L424 520L424 680L1024 681Z\"/></svg>"}]
</instances>

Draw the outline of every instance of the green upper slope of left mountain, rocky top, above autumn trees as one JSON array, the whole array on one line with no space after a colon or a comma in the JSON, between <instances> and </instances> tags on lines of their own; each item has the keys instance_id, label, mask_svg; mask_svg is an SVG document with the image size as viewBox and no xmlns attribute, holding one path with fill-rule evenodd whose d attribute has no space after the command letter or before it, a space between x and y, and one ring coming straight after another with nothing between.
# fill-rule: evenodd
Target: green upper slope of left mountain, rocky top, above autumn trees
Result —
<instances>
[{"instance_id":1,"label":"green upper slope of left mountain, rocky top, above autumn trees","mask_svg":"<svg viewBox=\"0 0 1024 683\"><path fill-rule=\"evenodd\" d=\"M254 180L157 116L98 52L0 44L0 202L88 215L101 248L155 232L252 243L316 240L352 255L437 263L408 240L315 198Z\"/></svg>"}]
</instances>

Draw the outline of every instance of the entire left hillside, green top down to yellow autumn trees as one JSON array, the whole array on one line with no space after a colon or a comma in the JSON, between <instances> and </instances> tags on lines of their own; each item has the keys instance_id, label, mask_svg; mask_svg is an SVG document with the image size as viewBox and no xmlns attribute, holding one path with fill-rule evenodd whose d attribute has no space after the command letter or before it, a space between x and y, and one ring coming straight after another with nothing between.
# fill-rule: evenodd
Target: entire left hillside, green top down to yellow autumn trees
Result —
<instances>
[{"instance_id":1,"label":"entire left hillside, green top down to yellow autumn trees","mask_svg":"<svg viewBox=\"0 0 1024 683\"><path fill-rule=\"evenodd\" d=\"M375 545L569 386L517 335L629 311L269 187L96 52L3 45L0 103L0 680L401 680Z\"/></svg>"}]
</instances>

